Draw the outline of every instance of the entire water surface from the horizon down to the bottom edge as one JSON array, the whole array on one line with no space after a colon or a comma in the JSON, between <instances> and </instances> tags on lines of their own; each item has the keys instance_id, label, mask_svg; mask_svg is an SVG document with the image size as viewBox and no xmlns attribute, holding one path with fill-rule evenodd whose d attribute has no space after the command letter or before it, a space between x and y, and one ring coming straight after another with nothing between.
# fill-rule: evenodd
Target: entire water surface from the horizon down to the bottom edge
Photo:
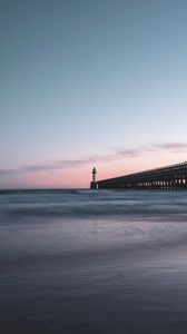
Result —
<instances>
[{"instance_id":1,"label":"entire water surface from the horizon down to the bottom edge","mask_svg":"<svg viewBox=\"0 0 187 334\"><path fill-rule=\"evenodd\" d=\"M186 334L187 191L1 190L0 333Z\"/></svg>"}]
</instances>

